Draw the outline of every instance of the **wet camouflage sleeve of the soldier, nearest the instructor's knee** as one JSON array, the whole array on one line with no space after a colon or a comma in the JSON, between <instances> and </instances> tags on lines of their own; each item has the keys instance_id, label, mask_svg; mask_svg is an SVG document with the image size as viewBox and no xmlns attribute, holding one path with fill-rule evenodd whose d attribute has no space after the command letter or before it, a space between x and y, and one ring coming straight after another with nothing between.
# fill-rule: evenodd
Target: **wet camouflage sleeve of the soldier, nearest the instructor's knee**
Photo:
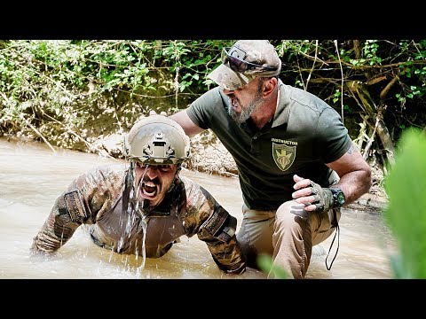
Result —
<instances>
[{"instance_id":1,"label":"wet camouflage sleeve of the soldier, nearest the instructor's knee","mask_svg":"<svg viewBox=\"0 0 426 319\"><path fill-rule=\"evenodd\" d=\"M241 274L246 262L235 236L237 219L220 206L208 191L193 184L187 190L186 227L204 241L217 267L228 274Z\"/></svg>"}]
</instances>

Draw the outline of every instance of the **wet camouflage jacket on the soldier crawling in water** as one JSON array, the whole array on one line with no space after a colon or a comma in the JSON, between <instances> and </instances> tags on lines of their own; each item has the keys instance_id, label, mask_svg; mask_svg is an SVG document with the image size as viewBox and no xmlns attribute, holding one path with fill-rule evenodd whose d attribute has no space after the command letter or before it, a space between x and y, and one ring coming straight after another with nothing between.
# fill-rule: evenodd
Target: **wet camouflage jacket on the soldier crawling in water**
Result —
<instances>
[{"instance_id":1,"label":"wet camouflage jacket on the soldier crawling in water","mask_svg":"<svg viewBox=\"0 0 426 319\"><path fill-rule=\"evenodd\" d=\"M127 167L95 167L77 177L56 199L42 229L33 239L35 251L55 252L82 224L90 225L95 244L116 253L161 257L178 237L197 234L218 268L241 274L245 260L235 237L236 218L208 191L185 176L162 203L151 210L122 205Z\"/></svg>"}]
</instances>

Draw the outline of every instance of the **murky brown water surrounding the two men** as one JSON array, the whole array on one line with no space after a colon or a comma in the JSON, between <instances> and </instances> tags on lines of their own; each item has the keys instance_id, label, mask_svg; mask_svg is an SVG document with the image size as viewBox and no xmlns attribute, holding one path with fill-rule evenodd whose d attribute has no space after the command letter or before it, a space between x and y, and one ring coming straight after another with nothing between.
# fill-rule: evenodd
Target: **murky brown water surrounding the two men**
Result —
<instances>
[{"instance_id":1,"label":"murky brown water surrounding the two men","mask_svg":"<svg viewBox=\"0 0 426 319\"><path fill-rule=\"evenodd\" d=\"M31 256L29 246L57 196L87 169L116 162L96 154L59 150L45 144L0 139L0 278L264 278L249 268L226 276L196 236L182 237L160 259L111 253L94 245L80 227L67 245L50 257ZM209 190L241 224L241 191L236 178L190 171L183 174ZM395 243L381 214L343 210L340 248L331 270L325 258L331 238L312 256L308 278L391 278L389 253ZM334 245L334 249L336 243ZM323 253L318 253L318 252ZM330 253L327 264L331 261Z\"/></svg>"}]
</instances>

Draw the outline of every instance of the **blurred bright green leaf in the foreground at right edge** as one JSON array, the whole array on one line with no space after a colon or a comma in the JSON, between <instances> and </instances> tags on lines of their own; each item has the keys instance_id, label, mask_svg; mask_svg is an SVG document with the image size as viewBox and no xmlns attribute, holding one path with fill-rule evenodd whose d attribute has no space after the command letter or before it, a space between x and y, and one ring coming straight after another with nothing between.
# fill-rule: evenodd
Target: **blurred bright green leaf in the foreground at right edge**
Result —
<instances>
[{"instance_id":1,"label":"blurred bright green leaf in the foreground at right edge","mask_svg":"<svg viewBox=\"0 0 426 319\"><path fill-rule=\"evenodd\" d=\"M384 183L389 195L384 217L399 248L399 255L391 260L397 278L426 278L425 159L426 136L406 128Z\"/></svg>"}]
</instances>

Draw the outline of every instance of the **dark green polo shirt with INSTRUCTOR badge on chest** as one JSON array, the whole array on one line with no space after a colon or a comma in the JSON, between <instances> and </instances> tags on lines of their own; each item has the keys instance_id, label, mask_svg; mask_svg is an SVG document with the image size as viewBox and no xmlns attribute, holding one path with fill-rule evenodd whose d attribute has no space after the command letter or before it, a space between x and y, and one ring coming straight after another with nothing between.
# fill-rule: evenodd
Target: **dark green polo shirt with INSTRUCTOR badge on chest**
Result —
<instances>
[{"instance_id":1,"label":"dark green polo shirt with INSTRUCTOR badge on chest","mask_svg":"<svg viewBox=\"0 0 426 319\"><path fill-rule=\"evenodd\" d=\"M233 155L242 197L250 209L275 210L292 199L293 175L323 187L335 183L325 163L351 147L348 130L331 106L303 89L280 85L272 121L258 129L251 119L239 126L227 112L230 99L217 87L187 109L200 128L210 128Z\"/></svg>"}]
</instances>

